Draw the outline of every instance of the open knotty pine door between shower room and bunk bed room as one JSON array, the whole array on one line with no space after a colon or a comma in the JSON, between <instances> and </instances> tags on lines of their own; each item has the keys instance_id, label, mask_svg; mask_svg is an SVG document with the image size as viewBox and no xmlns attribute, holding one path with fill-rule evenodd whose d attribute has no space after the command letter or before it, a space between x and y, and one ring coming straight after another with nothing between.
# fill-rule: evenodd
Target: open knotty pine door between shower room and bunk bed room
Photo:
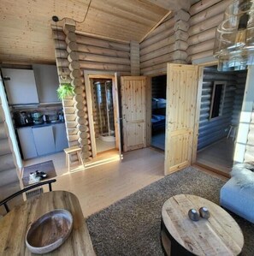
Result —
<instances>
[{"instance_id":1,"label":"open knotty pine door between shower room and bunk bed room","mask_svg":"<svg viewBox=\"0 0 254 256\"><path fill-rule=\"evenodd\" d=\"M121 77L123 151L146 146L145 76Z\"/></svg>"}]
</instances>

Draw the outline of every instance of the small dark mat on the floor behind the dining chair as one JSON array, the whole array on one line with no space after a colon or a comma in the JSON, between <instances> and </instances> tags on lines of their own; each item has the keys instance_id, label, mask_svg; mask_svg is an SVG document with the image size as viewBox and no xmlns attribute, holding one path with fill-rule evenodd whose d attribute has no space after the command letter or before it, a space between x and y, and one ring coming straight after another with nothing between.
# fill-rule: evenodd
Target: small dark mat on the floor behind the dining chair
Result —
<instances>
[{"instance_id":1,"label":"small dark mat on the floor behind the dining chair","mask_svg":"<svg viewBox=\"0 0 254 256\"><path fill-rule=\"evenodd\" d=\"M24 184L24 187L29 186L29 175L31 172L35 172L36 170L44 171L47 174L47 177L43 179L43 181L56 177L56 170L52 160L42 162L39 164L32 164L24 167L23 177L22 177L22 182Z\"/></svg>"}]
</instances>

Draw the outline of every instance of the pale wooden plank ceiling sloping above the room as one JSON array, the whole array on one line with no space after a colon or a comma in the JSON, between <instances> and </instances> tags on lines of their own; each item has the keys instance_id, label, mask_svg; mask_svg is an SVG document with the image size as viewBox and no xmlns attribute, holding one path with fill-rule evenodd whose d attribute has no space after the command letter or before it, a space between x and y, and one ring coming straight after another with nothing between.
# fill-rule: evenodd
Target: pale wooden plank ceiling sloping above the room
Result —
<instances>
[{"instance_id":1,"label":"pale wooden plank ceiling sloping above the room","mask_svg":"<svg viewBox=\"0 0 254 256\"><path fill-rule=\"evenodd\" d=\"M0 62L55 63L52 16L81 22L89 3L90 0L1 0ZM112 39L139 41L168 13L167 6L163 8L156 3L155 0L92 0L86 21L77 22L76 28Z\"/></svg>"}]
</instances>

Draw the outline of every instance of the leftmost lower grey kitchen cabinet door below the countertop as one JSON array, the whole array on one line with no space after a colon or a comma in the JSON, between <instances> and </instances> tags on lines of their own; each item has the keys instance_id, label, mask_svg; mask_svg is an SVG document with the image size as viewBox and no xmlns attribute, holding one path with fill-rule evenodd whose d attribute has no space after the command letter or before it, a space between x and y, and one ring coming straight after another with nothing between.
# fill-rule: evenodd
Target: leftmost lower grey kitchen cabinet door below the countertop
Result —
<instances>
[{"instance_id":1,"label":"leftmost lower grey kitchen cabinet door below the countertop","mask_svg":"<svg viewBox=\"0 0 254 256\"><path fill-rule=\"evenodd\" d=\"M19 128L17 129L17 132L19 135L23 158L36 158L38 155L33 140L32 128Z\"/></svg>"}]
</instances>

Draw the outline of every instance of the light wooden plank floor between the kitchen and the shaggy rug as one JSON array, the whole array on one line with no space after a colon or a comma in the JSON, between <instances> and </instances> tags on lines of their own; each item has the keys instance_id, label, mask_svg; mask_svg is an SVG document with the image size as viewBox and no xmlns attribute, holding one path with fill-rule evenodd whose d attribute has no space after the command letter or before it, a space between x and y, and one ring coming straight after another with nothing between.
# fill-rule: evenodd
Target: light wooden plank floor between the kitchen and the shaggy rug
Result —
<instances>
[{"instance_id":1,"label":"light wooden plank floor between the kitchen and the shaggy rug","mask_svg":"<svg viewBox=\"0 0 254 256\"><path fill-rule=\"evenodd\" d=\"M109 152L107 154L110 155ZM163 177L164 169L164 154L151 148L124 153L122 160L119 157L112 158L108 164L101 161L93 163L86 170L76 166L72 173L68 173L65 167L64 153L35 158L25 164L37 164L50 159L57 174L53 189L74 193L80 200L84 217L156 182Z\"/></svg>"}]
</instances>

